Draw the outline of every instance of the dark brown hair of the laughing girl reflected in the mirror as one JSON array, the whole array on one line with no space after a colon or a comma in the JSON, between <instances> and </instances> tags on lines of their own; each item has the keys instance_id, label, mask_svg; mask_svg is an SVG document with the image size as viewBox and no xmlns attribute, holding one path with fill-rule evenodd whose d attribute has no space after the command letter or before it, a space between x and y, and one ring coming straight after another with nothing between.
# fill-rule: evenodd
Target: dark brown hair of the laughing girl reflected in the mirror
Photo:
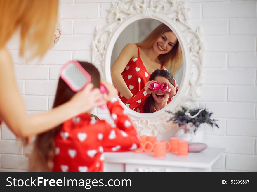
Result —
<instances>
[{"instance_id":1,"label":"dark brown hair of the laughing girl reflected in the mirror","mask_svg":"<svg viewBox=\"0 0 257 192\"><path fill-rule=\"evenodd\" d=\"M173 75L171 72L165 70L165 69L157 69L155 70L149 77L148 81L153 81L157 76L162 76L165 77L166 79L169 80L169 82L174 85L173 81ZM154 98L152 94L150 94L149 97L145 99L145 107L144 107L144 113L153 113L154 112Z\"/></svg>"}]
</instances>

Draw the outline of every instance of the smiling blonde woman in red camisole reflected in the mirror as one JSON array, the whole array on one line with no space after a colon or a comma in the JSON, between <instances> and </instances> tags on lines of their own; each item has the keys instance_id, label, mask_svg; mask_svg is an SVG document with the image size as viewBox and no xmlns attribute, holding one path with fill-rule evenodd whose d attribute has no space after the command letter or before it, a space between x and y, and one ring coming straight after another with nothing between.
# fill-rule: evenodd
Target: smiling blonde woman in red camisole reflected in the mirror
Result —
<instances>
[{"instance_id":1,"label":"smiling blonde woman in red camisole reflected in the mirror","mask_svg":"<svg viewBox=\"0 0 257 192\"><path fill-rule=\"evenodd\" d=\"M176 35L165 24L156 27L141 43L127 44L111 68L118 96L126 101L145 87L152 72L171 67L173 75L182 65L182 51ZM178 88L177 85L175 87Z\"/></svg>"}]
</instances>

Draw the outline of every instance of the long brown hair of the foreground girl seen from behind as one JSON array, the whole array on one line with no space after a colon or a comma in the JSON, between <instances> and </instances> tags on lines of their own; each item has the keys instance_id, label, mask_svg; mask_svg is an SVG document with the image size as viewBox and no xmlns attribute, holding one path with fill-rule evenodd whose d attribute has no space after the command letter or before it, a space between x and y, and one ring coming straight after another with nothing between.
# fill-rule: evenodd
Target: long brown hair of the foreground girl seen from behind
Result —
<instances>
[{"instance_id":1,"label":"long brown hair of the foreground girl seen from behind","mask_svg":"<svg viewBox=\"0 0 257 192\"><path fill-rule=\"evenodd\" d=\"M80 61L79 63L91 75L91 83L93 83L94 87L99 88L100 74L97 68L91 63ZM58 105L69 101L74 94L75 92L73 92L70 87L68 87L68 85L61 78L59 78L53 107L57 107ZM61 127L62 125L37 135L32 152L32 165L30 167L31 171L51 171L51 162L55 153L54 138Z\"/></svg>"}]
</instances>

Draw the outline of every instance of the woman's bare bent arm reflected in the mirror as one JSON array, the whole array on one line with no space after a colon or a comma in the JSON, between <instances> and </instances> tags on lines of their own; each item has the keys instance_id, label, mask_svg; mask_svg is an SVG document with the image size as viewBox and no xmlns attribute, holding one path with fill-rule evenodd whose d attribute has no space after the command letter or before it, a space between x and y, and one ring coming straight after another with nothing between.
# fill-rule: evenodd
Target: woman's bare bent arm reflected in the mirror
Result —
<instances>
[{"instance_id":1,"label":"woman's bare bent arm reflected in the mirror","mask_svg":"<svg viewBox=\"0 0 257 192\"><path fill-rule=\"evenodd\" d=\"M112 65L111 75L114 87L126 98L129 99L133 94L127 87L124 79L121 77L121 73L124 71L129 61L138 56L137 46L133 43L127 44L119 54L118 58Z\"/></svg>"}]
</instances>

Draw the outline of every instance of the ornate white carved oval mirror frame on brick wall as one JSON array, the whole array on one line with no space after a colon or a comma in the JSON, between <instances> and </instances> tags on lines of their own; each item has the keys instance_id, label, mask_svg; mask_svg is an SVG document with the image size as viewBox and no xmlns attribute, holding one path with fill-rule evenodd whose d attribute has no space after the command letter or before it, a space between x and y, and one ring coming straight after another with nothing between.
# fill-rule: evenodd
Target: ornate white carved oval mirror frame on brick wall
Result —
<instances>
[{"instance_id":1,"label":"ornate white carved oval mirror frame on brick wall","mask_svg":"<svg viewBox=\"0 0 257 192\"><path fill-rule=\"evenodd\" d=\"M112 83L110 61L114 44L119 34L131 23L152 18L166 24L176 35L183 51L183 77L177 95L164 109L155 113L138 113L122 103L141 135L164 133L171 129L167 122L170 114L181 105L196 101L200 96L198 86L202 82L202 41L199 28L193 30L188 24L185 3L176 0L121 0L113 2L108 15L108 24L96 28L92 42L92 62L101 76Z\"/></svg>"}]
</instances>

